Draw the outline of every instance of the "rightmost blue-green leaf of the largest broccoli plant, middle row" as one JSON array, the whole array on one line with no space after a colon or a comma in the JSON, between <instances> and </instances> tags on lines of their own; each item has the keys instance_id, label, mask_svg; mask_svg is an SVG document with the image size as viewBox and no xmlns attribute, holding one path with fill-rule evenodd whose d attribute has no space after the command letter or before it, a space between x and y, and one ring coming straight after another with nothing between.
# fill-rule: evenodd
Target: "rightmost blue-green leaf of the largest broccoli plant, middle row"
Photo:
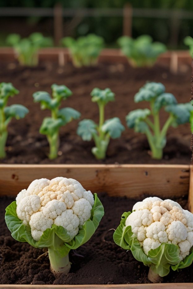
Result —
<instances>
[{"instance_id":1,"label":"rightmost blue-green leaf of the largest broccoli plant, middle row","mask_svg":"<svg viewBox=\"0 0 193 289\"><path fill-rule=\"evenodd\" d=\"M174 116L174 121L172 123L174 127L190 121L190 110L193 110L190 103L173 104L165 107L165 111Z\"/></svg>"}]
</instances>

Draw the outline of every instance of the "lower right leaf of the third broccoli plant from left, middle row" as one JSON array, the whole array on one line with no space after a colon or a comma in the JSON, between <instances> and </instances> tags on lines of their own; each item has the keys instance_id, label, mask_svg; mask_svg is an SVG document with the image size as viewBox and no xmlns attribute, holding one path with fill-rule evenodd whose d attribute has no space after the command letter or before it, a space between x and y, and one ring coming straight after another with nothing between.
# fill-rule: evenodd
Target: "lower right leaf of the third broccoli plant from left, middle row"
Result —
<instances>
[{"instance_id":1,"label":"lower right leaf of the third broccoli plant from left, middle row","mask_svg":"<svg viewBox=\"0 0 193 289\"><path fill-rule=\"evenodd\" d=\"M101 127L102 132L109 133L112 139L119 138L121 133L125 130L120 119L114 117L112 119L107 119Z\"/></svg>"}]
</instances>

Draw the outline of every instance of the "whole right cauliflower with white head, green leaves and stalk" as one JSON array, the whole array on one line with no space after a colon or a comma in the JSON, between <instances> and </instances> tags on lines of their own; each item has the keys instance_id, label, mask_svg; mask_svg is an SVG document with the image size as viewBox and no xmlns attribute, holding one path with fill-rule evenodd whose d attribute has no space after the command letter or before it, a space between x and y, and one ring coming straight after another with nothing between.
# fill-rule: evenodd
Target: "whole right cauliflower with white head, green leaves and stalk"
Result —
<instances>
[{"instance_id":1,"label":"whole right cauliflower with white head, green leaves and stalk","mask_svg":"<svg viewBox=\"0 0 193 289\"><path fill-rule=\"evenodd\" d=\"M193 261L193 214L172 200L149 197L125 212L114 232L114 242L131 250L136 260L149 266L154 283L172 270Z\"/></svg>"}]
</instances>

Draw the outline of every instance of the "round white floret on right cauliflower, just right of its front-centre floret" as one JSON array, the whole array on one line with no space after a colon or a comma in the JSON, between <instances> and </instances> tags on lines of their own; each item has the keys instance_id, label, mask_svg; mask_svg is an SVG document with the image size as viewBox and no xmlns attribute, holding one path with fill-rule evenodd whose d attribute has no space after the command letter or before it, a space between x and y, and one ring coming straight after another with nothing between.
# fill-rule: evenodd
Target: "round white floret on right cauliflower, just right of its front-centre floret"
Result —
<instances>
[{"instance_id":1,"label":"round white floret on right cauliflower, just right of its front-centre floret","mask_svg":"<svg viewBox=\"0 0 193 289\"><path fill-rule=\"evenodd\" d=\"M180 221L173 221L169 224L166 232L168 234L168 239L172 244L178 244L181 241L185 241L188 236L187 228Z\"/></svg>"}]
</instances>

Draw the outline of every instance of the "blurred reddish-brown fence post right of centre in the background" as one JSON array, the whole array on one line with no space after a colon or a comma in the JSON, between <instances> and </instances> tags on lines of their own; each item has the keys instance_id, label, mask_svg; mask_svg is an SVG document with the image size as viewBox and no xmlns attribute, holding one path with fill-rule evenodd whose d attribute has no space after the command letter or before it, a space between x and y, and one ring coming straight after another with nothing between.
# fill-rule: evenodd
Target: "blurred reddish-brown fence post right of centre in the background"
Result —
<instances>
[{"instance_id":1,"label":"blurred reddish-brown fence post right of centre in the background","mask_svg":"<svg viewBox=\"0 0 193 289\"><path fill-rule=\"evenodd\" d=\"M126 3L123 7L123 35L132 37L132 6Z\"/></svg>"}]
</instances>

